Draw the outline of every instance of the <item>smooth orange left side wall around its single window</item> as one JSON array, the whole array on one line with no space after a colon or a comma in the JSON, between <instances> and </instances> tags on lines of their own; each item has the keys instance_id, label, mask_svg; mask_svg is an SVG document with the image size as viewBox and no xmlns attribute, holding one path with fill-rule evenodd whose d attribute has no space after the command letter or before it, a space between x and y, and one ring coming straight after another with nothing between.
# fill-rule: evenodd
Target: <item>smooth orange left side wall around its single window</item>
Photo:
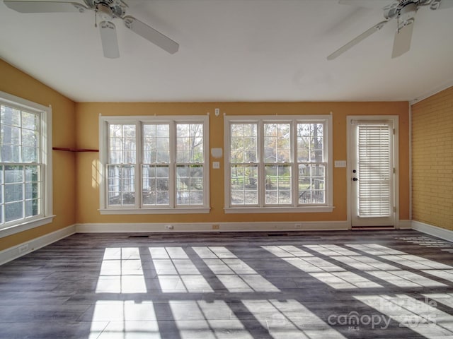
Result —
<instances>
[{"instance_id":1,"label":"smooth orange left side wall around its single window","mask_svg":"<svg viewBox=\"0 0 453 339\"><path fill-rule=\"evenodd\" d=\"M52 105L52 139L57 147L74 147L75 105L67 97L35 80L0 59L0 90L41 105ZM53 213L51 224L0 238L0 251L44 234L54 232L76 221L76 157L73 153L53 152Z\"/></svg>"}]
</instances>

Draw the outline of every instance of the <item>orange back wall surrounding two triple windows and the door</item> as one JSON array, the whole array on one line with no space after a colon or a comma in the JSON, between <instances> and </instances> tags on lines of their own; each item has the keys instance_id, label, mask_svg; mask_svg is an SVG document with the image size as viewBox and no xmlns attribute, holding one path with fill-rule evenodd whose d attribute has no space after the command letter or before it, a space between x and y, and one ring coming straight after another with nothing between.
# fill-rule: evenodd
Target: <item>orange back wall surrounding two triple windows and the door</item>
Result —
<instances>
[{"instance_id":1,"label":"orange back wall surrounding two triple windows and the door","mask_svg":"<svg viewBox=\"0 0 453 339\"><path fill-rule=\"evenodd\" d=\"M409 119L408 102L180 102L180 103L103 103L76 104L77 143L79 148L98 149L98 116L102 115L197 115L210 112L210 148L224 147L223 117L214 116L214 108L227 115L252 114L329 114L333 112L333 160L346 160L347 115L398 115L399 117L399 190L400 220L409 220ZM96 183L98 153L77 154L78 194L76 215L78 223L98 222L260 222L260 221L344 221L347 219L346 169L333 169L332 213L224 213L224 163L211 169L211 213L188 215L101 215L99 190ZM216 160L217 161L217 160ZM212 165L210 165L212 168Z\"/></svg>"}]
</instances>

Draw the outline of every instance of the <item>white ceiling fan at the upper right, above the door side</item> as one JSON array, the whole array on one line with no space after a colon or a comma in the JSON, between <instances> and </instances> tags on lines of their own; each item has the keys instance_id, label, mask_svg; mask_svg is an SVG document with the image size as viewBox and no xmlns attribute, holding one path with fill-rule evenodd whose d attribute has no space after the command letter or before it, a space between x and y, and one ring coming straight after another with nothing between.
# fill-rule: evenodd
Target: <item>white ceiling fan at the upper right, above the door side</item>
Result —
<instances>
[{"instance_id":1,"label":"white ceiling fan at the upper right, above the door side","mask_svg":"<svg viewBox=\"0 0 453 339\"><path fill-rule=\"evenodd\" d=\"M413 31L413 24L415 22L415 13L418 9L424 6L429 6L432 10L451 8L453 7L453 0L401 0L393 1L391 4L389 0L339 0L340 4L356 5L369 8L382 8L384 11L384 21L366 30L361 35L355 37L350 42L340 47L335 52L327 57L328 60L333 60L340 54L343 54L348 49L354 47L356 44L365 40L367 37L377 32L389 23L392 19L396 19L397 30L394 37L394 47L391 53L392 58L399 57L408 52L411 48L411 38ZM386 6L383 6L387 4Z\"/></svg>"}]
</instances>

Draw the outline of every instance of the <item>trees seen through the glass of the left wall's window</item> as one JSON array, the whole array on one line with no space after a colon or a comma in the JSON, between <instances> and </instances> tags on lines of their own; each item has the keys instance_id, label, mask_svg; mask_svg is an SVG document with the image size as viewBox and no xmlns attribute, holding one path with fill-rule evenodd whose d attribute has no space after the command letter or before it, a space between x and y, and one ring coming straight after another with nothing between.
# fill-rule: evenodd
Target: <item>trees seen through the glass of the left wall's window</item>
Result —
<instances>
[{"instance_id":1,"label":"trees seen through the glass of the left wall's window","mask_svg":"<svg viewBox=\"0 0 453 339\"><path fill-rule=\"evenodd\" d=\"M40 215L40 119L0 103L0 225Z\"/></svg>"}]
</instances>

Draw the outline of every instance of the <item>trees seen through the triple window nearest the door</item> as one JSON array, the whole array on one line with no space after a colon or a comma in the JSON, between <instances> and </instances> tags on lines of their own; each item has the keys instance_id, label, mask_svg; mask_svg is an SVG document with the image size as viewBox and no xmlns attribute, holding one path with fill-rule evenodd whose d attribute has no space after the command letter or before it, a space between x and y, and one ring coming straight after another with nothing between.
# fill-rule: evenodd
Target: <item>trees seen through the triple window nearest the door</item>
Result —
<instances>
[{"instance_id":1,"label":"trees seen through the triple window nearest the door","mask_svg":"<svg viewBox=\"0 0 453 339\"><path fill-rule=\"evenodd\" d=\"M323 121L232 121L229 128L231 206L326 202Z\"/></svg>"}]
</instances>

